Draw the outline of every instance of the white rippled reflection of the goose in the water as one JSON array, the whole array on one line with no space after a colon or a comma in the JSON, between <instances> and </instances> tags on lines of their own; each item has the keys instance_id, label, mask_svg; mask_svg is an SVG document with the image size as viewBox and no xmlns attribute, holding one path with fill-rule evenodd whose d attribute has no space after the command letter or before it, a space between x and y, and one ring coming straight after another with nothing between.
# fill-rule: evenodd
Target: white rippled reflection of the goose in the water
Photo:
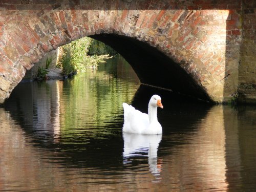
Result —
<instances>
[{"instance_id":1,"label":"white rippled reflection of the goose in the water","mask_svg":"<svg viewBox=\"0 0 256 192\"><path fill-rule=\"evenodd\" d=\"M162 135L123 133L123 163L132 162L132 157L147 156L149 170L155 176L155 182L160 182L162 163L157 159L157 151L161 140Z\"/></svg>"}]
</instances>

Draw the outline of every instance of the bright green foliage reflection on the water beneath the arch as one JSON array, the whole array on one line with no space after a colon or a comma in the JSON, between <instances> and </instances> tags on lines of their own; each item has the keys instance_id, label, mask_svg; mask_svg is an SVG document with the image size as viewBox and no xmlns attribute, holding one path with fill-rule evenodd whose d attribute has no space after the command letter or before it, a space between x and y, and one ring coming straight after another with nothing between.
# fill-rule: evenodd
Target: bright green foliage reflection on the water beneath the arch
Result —
<instances>
[{"instance_id":1,"label":"bright green foliage reflection on the water beneath the arch","mask_svg":"<svg viewBox=\"0 0 256 192\"><path fill-rule=\"evenodd\" d=\"M60 106L64 106L65 116L61 119L61 127L63 127L61 133L78 134L80 131L84 132L84 127L88 127L91 132L99 131L99 125L102 127L102 124L111 123L114 117L122 118L118 116L122 114L122 103L132 101L138 89L138 81L123 77L117 79L114 74L118 71L130 72L131 66L128 63L112 65L112 60L108 60L106 65L99 66L104 68L102 71L100 69L87 71L63 82L65 89L61 95L65 98L61 100L65 100L65 103L61 103ZM124 62L124 59L122 61ZM105 68L112 72L106 72ZM133 74L130 73L128 76ZM83 129L74 130L72 127L83 127Z\"/></svg>"}]
</instances>

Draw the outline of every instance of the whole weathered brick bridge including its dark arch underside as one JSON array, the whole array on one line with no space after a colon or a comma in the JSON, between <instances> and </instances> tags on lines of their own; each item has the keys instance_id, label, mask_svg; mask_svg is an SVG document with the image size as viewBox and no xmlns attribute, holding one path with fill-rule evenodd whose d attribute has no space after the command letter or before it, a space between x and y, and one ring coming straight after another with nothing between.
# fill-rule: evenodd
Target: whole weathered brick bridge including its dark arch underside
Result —
<instances>
[{"instance_id":1,"label":"whole weathered brick bridge including its dark arch underside","mask_svg":"<svg viewBox=\"0 0 256 192\"><path fill-rule=\"evenodd\" d=\"M0 0L0 103L34 63L91 36L142 83L202 99L256 99L254 0Z\"/></svg>"}]
</instances>

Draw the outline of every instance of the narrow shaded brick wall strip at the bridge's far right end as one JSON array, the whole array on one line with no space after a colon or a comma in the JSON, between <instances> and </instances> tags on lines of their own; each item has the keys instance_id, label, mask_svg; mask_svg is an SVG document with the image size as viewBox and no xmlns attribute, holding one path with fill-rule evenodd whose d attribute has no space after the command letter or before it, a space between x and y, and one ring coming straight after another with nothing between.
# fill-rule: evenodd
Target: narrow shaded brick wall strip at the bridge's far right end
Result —
<instances>
[{"instance_id":1,"label":"narrow shaded brick wall strip at the bridge's far right end","mask_svg":"<svg viewBox=\"0 0 256 192\"><path fill-rule=\"evenodd\" d=\"M244 1L242 24L239 99L256 103L256 1Z\"/></svg>"}]
</instances>

